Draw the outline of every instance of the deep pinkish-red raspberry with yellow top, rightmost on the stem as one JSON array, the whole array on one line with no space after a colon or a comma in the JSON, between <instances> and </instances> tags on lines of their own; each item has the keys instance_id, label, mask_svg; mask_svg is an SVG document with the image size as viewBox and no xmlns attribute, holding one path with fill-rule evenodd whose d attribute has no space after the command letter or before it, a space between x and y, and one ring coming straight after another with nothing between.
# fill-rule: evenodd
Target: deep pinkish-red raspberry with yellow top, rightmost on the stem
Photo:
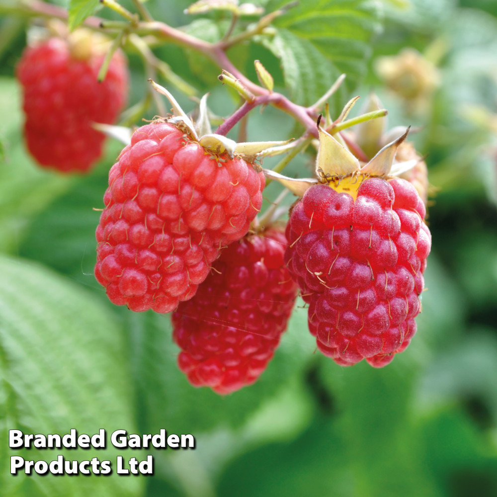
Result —
<instances>
[{"instance_id":1,"label":"deep pinkish-red raspberry with yellow top, rightmost on the stem","mask_svg":"<svg viewBox=\"0 0 497 497\"><path fill-rule=\"evenodd\" d=\"M354 180L344 183L352 194L317 184L294 206L285 260L319 349L344 366L382 367L416 331L431 236L408 181L365 179L355 199Z\"/></svg>"}]
</instances>

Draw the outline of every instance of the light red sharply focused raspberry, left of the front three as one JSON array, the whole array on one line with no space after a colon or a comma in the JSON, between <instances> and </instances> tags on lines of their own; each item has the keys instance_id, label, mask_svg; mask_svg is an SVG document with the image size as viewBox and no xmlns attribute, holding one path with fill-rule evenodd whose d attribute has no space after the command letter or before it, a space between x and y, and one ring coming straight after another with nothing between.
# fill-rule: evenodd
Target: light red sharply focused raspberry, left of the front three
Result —
<instances>
[{"instance_id":1,"label":"light red sharply focused raspberry, left of the front three","mask_svg":"<svg viewBox=\"0 0 497 497\"><path fill-rule=\"evenodd\" d=\"M193 297L223 246L262 204L264 174L213 155L159 119L138 128L109 172L95 277L132 311L167 313Z\"/></svg>"}]
</instances>

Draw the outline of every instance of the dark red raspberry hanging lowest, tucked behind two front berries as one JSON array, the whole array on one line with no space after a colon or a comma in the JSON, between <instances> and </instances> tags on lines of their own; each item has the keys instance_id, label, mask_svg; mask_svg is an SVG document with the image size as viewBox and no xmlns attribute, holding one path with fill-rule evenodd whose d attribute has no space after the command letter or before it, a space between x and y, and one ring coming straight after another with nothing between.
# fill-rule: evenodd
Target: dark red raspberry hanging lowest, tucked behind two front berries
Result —
<instances>
[{"instance_id":1,"label":"dark red raspberry hanging lowest, tucked behind two front berries","mask_svg":"<svg viewBox=\"0 0 497 497\"><path fill-rule=\"evenodd\" d=\"M214 271L172 315L178 365L196 387L228 394L265 370L297 294L283 263L281 231L249 235L223 250Z\"/></svg>"}]
</instances>

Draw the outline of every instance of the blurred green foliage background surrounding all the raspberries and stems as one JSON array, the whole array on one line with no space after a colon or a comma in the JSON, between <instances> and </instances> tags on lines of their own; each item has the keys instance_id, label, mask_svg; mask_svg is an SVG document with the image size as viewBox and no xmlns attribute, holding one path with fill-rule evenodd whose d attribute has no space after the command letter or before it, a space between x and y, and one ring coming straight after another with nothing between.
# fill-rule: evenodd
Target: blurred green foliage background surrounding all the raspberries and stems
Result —
<instances>
[{"instance_id":1,"label":"blurred green foliage background surrounding all the raspberries and stems","mask_svg":"<svg viewBox=\"0 0 497 497\"><path fill-rule=\"evenodd\" d=\"M270 11L285 2L259 3ZM146 5L155 18L208 40L219 39L229 24L219 12L187 16L184 0ZM333 112L374 89L390 111L389 127L421 126L412 139L427 157L436 195L423 312L406 352L381 370L362 363L340 368L315 351L299 303L267 371L226 398L194 389L178 372L167 316L117 308L95 282L99 213L93 208L103 206L120 146L108 143L105 158L85 177L34 164L23 148L13 78L26 23L1 19L0 39L8 36L0 43L6 116L0 122L1 495L496 496L497 137L488 121L472 117L474 109L497 113L496 15L489 0L302 0L276 20L272 39L229 51L253 81L253 60L260 59L277 90L299 103L312 103L346 72ZM432 57L440 73L418 113L375 70L379 57L404 47ZM168 44L154 52L199 94L210 91L216 114L239 104L207 59ZM130 63L135 103L146 83L140 60L132 55ZM187 110L194 107L175 96ZM154 114L151 108L144 117ZM294 132L291 118L273 108L249 117L250 140ZM312 160L298 157L288 173L307 175ZM272 199L278 191L272 184L265 194ZM197 448L154 452L154 477L8 475L8 429L66 433L72 427L88 433L166 428L194 434ZM109 451L106 458L118 454Z\"/></svg>"}]
</instances>

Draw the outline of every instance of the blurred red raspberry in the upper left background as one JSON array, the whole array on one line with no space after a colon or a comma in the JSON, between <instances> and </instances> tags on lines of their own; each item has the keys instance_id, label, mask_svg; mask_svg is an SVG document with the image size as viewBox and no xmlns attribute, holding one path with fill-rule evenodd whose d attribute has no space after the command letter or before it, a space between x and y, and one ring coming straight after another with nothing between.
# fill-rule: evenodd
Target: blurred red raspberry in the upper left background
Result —
<instances>
[{"instance_id":1,"label":"blurred red raspberry in the upper left background","mask_svg":"<svg viewBox=\"0 0 497 497\"><path fill-rule=\"evenodd\" d=\"M126 101L125 57L116 52L98 83L105 54L91 34L84 36L89 39L80 38L76 47L59 37L28 47L17 66L28 150L41 166L64 172L86 171L100 158L105 135L91 123L114 123Z\"/></svg>"}]
</instances>

